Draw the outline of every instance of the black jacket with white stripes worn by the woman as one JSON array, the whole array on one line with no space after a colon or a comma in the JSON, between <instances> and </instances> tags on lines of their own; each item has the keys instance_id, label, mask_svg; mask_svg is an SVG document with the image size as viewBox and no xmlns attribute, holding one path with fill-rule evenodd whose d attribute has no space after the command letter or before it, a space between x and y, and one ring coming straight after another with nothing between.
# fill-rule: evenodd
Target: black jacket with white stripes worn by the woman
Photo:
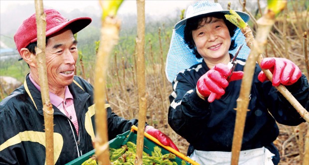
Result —
<instances>
[{"instance_id":1,"label":"black jacket with white stripes worn by the woman","mask_svg":"<svg viewBox=\"0 0 309 165\"><path fill-rule=\"evenodd\" d=\"M238 59L235 71L243 71L244 65L245 61ZM172 82L168 123L190 143L188 155L193 149L231 152L236 118L234 108L242 81L230 82L221 99L209 103L196 93L196 83L207 71L209 68L202 61L178 73ZM260 71L261 68L256 65L241 150L265 146L279 156L272 144L279 134L276 121L296 126L305 120L270 81L261 83L258 80ZM308 111L309 88L306 77L303 75L297 83L286 87Z\"/></svg>"}]
</instances>

